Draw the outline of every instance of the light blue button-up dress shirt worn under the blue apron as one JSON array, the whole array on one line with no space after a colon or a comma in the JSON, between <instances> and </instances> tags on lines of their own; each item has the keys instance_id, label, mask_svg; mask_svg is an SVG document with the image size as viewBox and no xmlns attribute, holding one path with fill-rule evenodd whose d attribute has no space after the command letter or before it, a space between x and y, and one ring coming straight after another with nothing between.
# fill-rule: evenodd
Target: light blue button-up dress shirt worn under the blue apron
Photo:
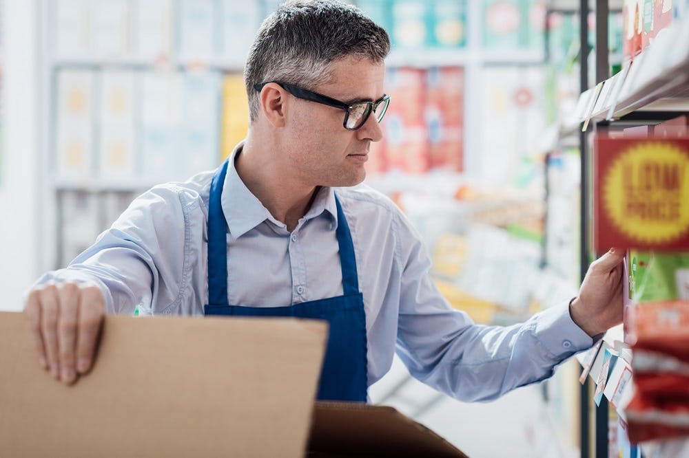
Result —
<instances>
[{"instance_id":1,"label":"light blue button-up dress shirt worn under the blue apron","mask_svg":"<svg viewBox=\"0 0 689 458\"><path fill-rule=\"evenodd\" d=\"M38 283L92 281L109 314L138 307L143 315L202 315L212 176L148 190L68 268ZM290 233L251 194L232 161L222 196L230 305L279 307L342 294L335 193L364 296L369 385L387 373L397 351L411 374L435 389L460 400L491 400L549 377L593 344L573 323L568 303L510 327L476 325L451 308L431 279L418 233L376 190L320 188Z\"/></svg>"}]
</instances>

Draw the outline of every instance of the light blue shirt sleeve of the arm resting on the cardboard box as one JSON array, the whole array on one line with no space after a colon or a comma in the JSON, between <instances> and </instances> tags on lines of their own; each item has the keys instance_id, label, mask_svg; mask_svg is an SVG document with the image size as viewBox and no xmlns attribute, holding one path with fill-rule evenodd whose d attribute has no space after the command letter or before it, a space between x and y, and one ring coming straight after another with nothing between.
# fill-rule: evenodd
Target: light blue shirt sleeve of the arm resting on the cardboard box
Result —
<instances>
[{"instance_id":1,"label":"light blue shirt sleeve of the arm resting on the cardboard box","mask_svg":"<svg viewBox=\"0 0 689 458\"><path fill-rule=\"evenodd\" d=\"M67 268L36 283L95 283L105 312L142 314L165 309L180 294L189 237L189 203L171 186L156 186L136 198L112 227Z\"/></svg>"}]
</instances>

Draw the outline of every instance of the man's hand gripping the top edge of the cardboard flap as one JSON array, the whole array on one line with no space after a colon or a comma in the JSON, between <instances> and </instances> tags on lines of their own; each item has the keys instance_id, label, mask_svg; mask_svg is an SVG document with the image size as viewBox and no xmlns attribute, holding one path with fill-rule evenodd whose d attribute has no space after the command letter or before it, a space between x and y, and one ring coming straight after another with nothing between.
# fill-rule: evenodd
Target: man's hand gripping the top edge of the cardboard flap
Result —
<instances>
[{"instance_id":1,"label":"man's hand gripping the top edge of the cardboard flap","mask_svg":"<svg viewBox=\"0 0 689 458\"><path fill-rule=\"evenodd\" d=\"M43 369L65 384L89 371L105 316L99 287L74 282L35 287L24 314Z\"/></svg>"}]
</instances>

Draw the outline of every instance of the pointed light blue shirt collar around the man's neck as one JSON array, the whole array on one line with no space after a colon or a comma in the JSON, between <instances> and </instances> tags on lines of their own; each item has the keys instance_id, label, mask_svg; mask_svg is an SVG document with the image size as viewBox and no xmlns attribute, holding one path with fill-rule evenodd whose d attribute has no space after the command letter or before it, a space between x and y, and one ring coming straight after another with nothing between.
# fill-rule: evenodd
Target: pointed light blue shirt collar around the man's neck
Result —
<instances>
[{"instance_id":1,"label":"pointed light blue shirt collar around the man's neck","mask_svg":"<svg viewBox=\"0 0 689 458\"><path fill-rule=\"evenodd\" d=\"M241 237L266 219L276 226L285 227L284 223L277 221L270 214L267 208L258 200L258 197L251 193L239 177L234 160L241 153L243 146L244 142L240 142L229 156L227 175L225 175L225 182L223 183L223 195L220 197L229 233L235 238ZM335 192L333 188L325 186L318 190L316 198L313 199L311 208L309 208L304 218L316 218L323 212L329 213L331 217L331 230L335 230L338 226Z\"/></svg>"}]
</instances>

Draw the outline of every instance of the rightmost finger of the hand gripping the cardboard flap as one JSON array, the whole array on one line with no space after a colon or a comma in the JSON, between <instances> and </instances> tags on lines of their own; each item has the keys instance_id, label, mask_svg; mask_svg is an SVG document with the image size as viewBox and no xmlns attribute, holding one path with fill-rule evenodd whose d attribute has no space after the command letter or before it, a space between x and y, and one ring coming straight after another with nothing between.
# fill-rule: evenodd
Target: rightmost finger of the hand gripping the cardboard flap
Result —
<instances>
[{"instance_id":1,"label":"rightmost finger of the hand gripping the cardboard flap","mask_svg":"<svg viewBox=\"0 0 689 458\"><path fill-rule=\"evenodd\" d=\"M80 374L91 369L104 315L105 301L101 290L96 286L84 287L79 301L79 336L76 342L76 370Z\"/></svg>"}]
</instances>

